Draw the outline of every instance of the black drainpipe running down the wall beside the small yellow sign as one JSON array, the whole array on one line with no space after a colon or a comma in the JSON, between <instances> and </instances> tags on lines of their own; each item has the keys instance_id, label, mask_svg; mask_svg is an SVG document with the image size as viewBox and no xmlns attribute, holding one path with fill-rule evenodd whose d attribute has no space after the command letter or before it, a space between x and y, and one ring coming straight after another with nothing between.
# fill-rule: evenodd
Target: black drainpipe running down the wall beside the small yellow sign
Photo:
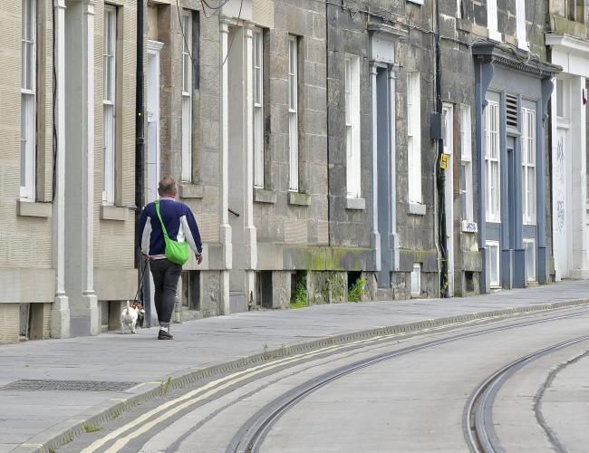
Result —
<instances>
[{"instance_id":1,"label":"black drainpipe running down the wall beside the small yellow sign","mask_svg":"<svg viewBox=\"0 0 589 453\"><path fill-rule=\"evenodd\" d=\"M439 2L435 2L434 20L436 24L435 52L436 52L436 112L441 119L442 114L442 99L441 99L441 48L439 45ZM441 121L440 121L441 123ZM441 125L441 124L440 124ZM444 143L438 140L438 152L436 157L436 190L438 194L438 242L439 242L439 294L441 297L449 297L449 281L448 281L448 237L446 227L446 208L445 208L445 183L446 173L441 169L441 156L444 152ZM451 169L450 169L451 171Z\"/></svg>"}]
</instances>

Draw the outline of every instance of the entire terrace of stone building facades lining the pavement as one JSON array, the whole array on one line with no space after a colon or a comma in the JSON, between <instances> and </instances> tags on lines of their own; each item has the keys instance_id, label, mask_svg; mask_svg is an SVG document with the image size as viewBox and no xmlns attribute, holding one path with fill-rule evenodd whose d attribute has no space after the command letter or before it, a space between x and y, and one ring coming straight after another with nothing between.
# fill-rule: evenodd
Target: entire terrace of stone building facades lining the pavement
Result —
<instances>
[{"instance_id":1,"label":"entire terrace of stone building facades lining the pavement","mask_svg":"<svg viewBox=\"0 0 589 453\"><path fill-rule=\"evenodd\" d=\"M205 250L175 319L584 276L587 8L546 5L148 2L145 198L176 178ZM2 8L0 341L99 333L138 280L136 6Z\"/></svg>"}]
</instances>

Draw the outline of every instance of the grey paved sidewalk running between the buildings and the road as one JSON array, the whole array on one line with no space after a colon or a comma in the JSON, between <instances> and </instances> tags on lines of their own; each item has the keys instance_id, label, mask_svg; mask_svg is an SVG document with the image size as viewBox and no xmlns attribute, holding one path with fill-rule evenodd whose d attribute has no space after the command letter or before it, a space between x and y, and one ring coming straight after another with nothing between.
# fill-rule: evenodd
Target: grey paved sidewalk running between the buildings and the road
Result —
<instances>
[{"instance_id":1,"label":"grey paved sidewalk running between the buildings and the road","mask_svg":"<svg viewBox=\"0 0 589 453\"><path fill-rule=\"evenodd\" d=\"M0 346L0 452L53 451L162 390L256 362L383 333L589 304L589 281L465 298L315 305L174 324L137 334Z\"/></svg>"}]
</instances>

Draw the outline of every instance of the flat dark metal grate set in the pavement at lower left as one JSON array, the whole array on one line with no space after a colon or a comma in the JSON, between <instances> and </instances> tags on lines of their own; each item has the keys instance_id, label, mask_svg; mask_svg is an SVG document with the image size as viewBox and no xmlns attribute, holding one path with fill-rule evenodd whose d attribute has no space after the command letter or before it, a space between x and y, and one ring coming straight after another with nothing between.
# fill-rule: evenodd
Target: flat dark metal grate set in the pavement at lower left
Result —
<instances>
[{"instance_id":1,"label":"flat dark metal grate set in the pavement at lower left","mask_svg":"<svg viewBox=\"0 0 589 453\"><path fill-rule=\"evenodd\" d=\"M128 390L138 382L109 381L49 381L42 379L24 379L11 382L1 391L121 391Z\"/></svg>"}]
</instances>

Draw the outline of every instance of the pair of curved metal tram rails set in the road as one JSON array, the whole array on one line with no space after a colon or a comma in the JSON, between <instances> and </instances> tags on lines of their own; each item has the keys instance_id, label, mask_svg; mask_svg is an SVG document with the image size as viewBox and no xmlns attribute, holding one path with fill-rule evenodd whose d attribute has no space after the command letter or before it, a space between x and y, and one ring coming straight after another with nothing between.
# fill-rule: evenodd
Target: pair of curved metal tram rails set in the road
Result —
<instances>
[{"instance_id":1,"label":"pair of curved metal tram rails set in the road","mask_svg":"<svg viewBox=\"0 0 589 453\"><path fill-rule=\"evenodd\" d=\"M360 371L364 368L370 367L370 366L375 365L377 363L381 363L382 361L388 361L388 360L391 360L391 359L394 359L397 357L401 357L403 355L407 355L410 353L420 352L420 351L430 349L430 348L433 348L433 347L436 347L436 346L439 346L442 344L446 344L449 342L457 342L457 341L465 339L465 338L477 337L477 336L485 335L488 333L497 333L497 332L511 330L511 329L515 329L515 328L519 328L519 327L531 326L531 325L535 325L535 324L539 324L539 323L558 321L558 320L567 319L567 318L571 318L571 317L577 317L579 315L584 315L584 314L588 314L588 313L589 312L585 311L585 312L581 312L581 313L577 312L577 313L561 314L561 315L550 316L550 317L537 319L537 320L524 321L521 323L511 323L511 324L503 325L503 326L495 326L495 327L491 327L488 329L484 329L484 330L472 332L472 333L460 333L458 335L454 335L454 336L439 339L439 340L434 340L434 341L430 341L430 342L423 342L423 343L420 343L420 344L417 344L414 346L403 348L398 351L381 353L381 354L376 355L372 358L364 359L362 361L356 361L351 364L340 367L334 371L326 372L323 375L318 376L318 377L314 378L313 380L306 381L303 384L299 385L298 387L294 388L293 390L290 390L290 391L284 393L280 397L278 397L275 400L266 404L266 406L264 408L262 408L261 410L258 410L256 412L256 414L252 418L248 419L246 421L246 423L237 431L236 436L232 439L232 441L229 444L226 451L227 451L227 453L250 453L250 452L254 453L254 452L259 451L262 444L264 443L264 440L266 439L266 434L270 431L270 429L272 429L272 427L275 425L275 423L278 421L278 419L280 419L285 414L285 412L287 412L288 410L293 408L300 401L304 400L305 397L307 397L308 395L313 393L315 390L319 390L323 386L329 384L330 382L340 379L340 378L342 378L346 375L349 375L355 371ZM585 340L589 340L589 335L579 337L579 338L576 338L574 340L570 340L567 342L561 342L561 343L555 344L553 346L550 346L550 347L545 348L545 349L538 351L538 352L534 352L532 354L529 354L526 357L523 357L517 361L510 363L506 367L504 367L501 370L494 373L491 377L488 378L488 380L484 381L483 384L478 387L478 391L476 391L473 394L473 396L471 397L471 399L468 401L468 405L469 405L468 407L470 408L470 406L472 406L471 403L473 403L473 401L475 401L475 402L478 401L478 399L475 400L475 397L477 395L487 394L487 393L485 393L486 390L496 389L495 390L495 392L496 392L498 390L498 388L500 387L500 385L498 387L496 387L497 382L498 382L497 380L503 379L504 381L506 381L507 380L506 376L510 376L511 374L516 372L519 368L525 366L525 364L528 363L529 361L533 361L535 357L539 358L540 356L546 355L549 352L555 352L559 349L563 349L567 346L573 345L577 342L583 342ZM503 381L501 381L501 382L503 382ZM492 394L494 395L495 393L492 393ZM489 401L491 401L491 400L489 400ZM473 421L473 419L471 419L471 415L470 415L470 414L472 414L473 411L476 411L476 410L468 409L468 411L465 411L465 412L468 412L468 417L465 417L465 435L468 432L468 436L466 436L468 445L473 451L501 451L500 449L484 449L484 448L481 449L480 448L481 445L485 445L485 442L487 441L486 439L490 439L489 445L491 445L491 448L493 445L495 445L495 446L499 445L497 437L496 436L493 437L494 433L491 431L492 426L491 426L491 428L489 428L488 423L481 425L481 421L480 421L480 420L485 419L484 418L485 415L487 415L487 418L489 419L488 414L490 413L489 411L491 410L492 405L491 406L483 406L483 407L485 408L484 410L486 412L483 413L482 418L478 418L479 419L478 426L481 427L481 429L487 429L488 437L483 440L478 438L478 432L476 430L477 423L475 421ZM478 406L477 406L477 408L478 408ZM474 415L476 416L476 414L474 414ZM470 429L471 424L473 427L475 427L474 433L473 433L472 429ZM466 429L467 426L468 426L468 431ZM481 436L484 437L485 434L481 434Z\"/></svg>"}]
</instances>

